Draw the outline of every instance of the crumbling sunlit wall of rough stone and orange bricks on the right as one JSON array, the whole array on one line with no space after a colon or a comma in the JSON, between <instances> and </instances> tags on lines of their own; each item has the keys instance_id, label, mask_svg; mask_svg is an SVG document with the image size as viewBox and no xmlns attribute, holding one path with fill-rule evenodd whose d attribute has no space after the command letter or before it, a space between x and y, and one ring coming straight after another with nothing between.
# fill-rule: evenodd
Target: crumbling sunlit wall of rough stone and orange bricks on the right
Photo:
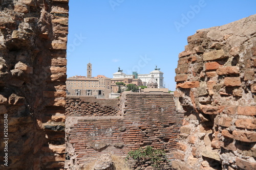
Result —
<instances>
[{"instance_id":1,"label":"crumbling sunlit wall of rough stone and orange bricks on the right","mask_svg":"<svg viewBox=\"0 0 256 170\"><path fill-rule=\"evenodd\" d=\"M176 169L256 169L256 15L197 31L179 54Z\"/></svg>"}]
</instances>

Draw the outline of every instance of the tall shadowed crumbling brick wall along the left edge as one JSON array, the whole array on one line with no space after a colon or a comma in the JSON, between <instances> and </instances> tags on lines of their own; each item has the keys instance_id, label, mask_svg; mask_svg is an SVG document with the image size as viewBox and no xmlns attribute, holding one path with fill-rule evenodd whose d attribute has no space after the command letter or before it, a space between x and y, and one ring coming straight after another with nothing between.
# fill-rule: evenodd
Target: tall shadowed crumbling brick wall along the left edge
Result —
<instances>
[{"instance_id":1,"label":"tall shadowed crumbling brick wall along the left edge","mask_svg":"<svg viewBox=\"0 0 256 170\"><path fill-rule=\"evenodd\" d=\"M0 169L63 169L68 9L0 1Z\"/></svg>"}]
</instances>

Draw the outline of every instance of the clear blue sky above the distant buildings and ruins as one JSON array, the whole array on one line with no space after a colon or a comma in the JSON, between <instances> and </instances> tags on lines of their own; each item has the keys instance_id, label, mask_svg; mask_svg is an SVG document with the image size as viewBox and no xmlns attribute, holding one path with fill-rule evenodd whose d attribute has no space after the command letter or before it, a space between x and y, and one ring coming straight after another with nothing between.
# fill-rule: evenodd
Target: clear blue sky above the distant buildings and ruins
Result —
<instances>
[{"instance_id":1,"label":"clear blue sky above the distant buildings and ruins","mask_svg":"<svg viewBox=\"0 0 256 170\"><path fill-rule=\"evenodd\" d=\"M70 0L68 77L112 78L149 74L157 65L165 87L175 90L178 55L199 29L222 26L256 13L256 1Z\"/></svg>"}]
</instances>

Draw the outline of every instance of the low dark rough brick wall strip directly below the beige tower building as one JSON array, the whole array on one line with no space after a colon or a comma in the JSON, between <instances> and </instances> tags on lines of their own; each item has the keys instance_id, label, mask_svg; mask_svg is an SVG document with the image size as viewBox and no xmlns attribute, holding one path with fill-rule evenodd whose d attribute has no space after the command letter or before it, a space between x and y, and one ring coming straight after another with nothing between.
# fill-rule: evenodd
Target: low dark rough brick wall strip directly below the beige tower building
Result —
<instances>
[{"instance_id":1,"label":"low dark rough brick wall strip directly below the beige tower building","mask_svg":"<svg viewBox=\"0 0 256 170\"><path fill-rule=\"evenodd\" d=\"M114 116L118 111L118 99L96 99L94 96L67 96L67 116Z\"/></svg>"}]
</instances>

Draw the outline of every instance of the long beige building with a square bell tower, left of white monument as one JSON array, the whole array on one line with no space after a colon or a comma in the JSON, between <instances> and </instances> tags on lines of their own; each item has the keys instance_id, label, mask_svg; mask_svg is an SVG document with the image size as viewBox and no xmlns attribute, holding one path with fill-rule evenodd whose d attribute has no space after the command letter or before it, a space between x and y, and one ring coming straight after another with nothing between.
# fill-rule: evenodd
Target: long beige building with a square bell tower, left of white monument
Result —
<instances>
[{"instance_id":1,"label":"long beige building with a square bell tower, left of white monument","mask_svg":"<svg viewBox=\"0 0 256 170\"><path fill-rule=\"evenodd\" d=\"M111 79L102 75L92 77L92 64L87 64L86 76L73 76L67 79L67 95L96 96L109 98L111 93Z\"/></svg>"}]
</instances>

